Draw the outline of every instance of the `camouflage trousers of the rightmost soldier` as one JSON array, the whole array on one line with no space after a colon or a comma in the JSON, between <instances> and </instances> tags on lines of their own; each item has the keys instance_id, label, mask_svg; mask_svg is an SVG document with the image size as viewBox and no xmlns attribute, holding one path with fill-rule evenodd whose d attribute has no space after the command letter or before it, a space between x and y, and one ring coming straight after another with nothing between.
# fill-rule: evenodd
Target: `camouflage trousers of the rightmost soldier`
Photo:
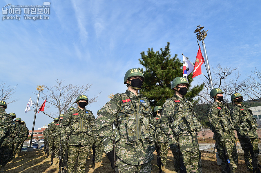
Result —
<instances>
[{"instance_id":1,"label":"camouflage trousers of the rightmost soldier","mask_svg":"<svg viewBox=\"0 0 261 173\"><path fill-rule=\"evenodd\" d=\"M258 138L250 138L250 139L251 139L251 143L253 145L255 157L258 158L258 154L259 154L258 153ZM239 139L239 141L242 146L242 149L244 150L244 159L245 159L245 163L247 165L247 170L253 171L252 158L251 158L251 154L249 151L249 141L244 140L244 139Z\"/></svg>"}]
</instances>

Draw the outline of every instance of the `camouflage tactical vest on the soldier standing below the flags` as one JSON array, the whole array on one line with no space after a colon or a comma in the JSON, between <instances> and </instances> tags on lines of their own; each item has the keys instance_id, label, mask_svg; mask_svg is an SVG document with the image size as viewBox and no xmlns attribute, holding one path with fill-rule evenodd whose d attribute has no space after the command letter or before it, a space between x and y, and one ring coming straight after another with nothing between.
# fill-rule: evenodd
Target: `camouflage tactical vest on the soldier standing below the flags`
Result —
<instances>
[{"instance_id":1,"label":"camouflage tactical vest on the soldier standing below the flags","mask_svg":"<svg viewBox=\"0 0 261 173\"><path fill-rule=\"evenodd\" d=\"M183 104L175 97L170 98L173 101L174 112L173 115L179 114L179 118L174 120L170 117L170 124L175 135L180 135L184 131L199 132L201 124L197 120L196 114L193 111L193 105L190 101L184 99L187 104Z\"/></svg>"}]
</instances>

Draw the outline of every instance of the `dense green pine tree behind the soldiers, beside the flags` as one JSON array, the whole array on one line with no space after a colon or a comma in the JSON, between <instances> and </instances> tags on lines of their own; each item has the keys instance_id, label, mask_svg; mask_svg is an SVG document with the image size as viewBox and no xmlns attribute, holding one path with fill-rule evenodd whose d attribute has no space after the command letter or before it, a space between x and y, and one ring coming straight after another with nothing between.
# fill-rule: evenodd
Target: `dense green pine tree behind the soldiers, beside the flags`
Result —
<instances>
[{"instance_id":1,"label":"dense green pine tree behind the soldiers, beside the flags","mask_svg":"<svg viewBox=\"0 0 261 173\"><path fill-rule=\"evenodd\" d=\"M166 99L174 95L174 90L171 90L171 82L176 77L182 77L182 62L177 58L177 54L171 57L169 49L170 42L167 42L165 49L153 51L153 48L148 48L147 55L141 52L139 63L145 67L142 70L145 77L140 93L147 97L154 108L157 105L162 106ZM189 83L193 81L192 74L188 76ZM196 85L193 88L189 87L186 98L192 103L197 103L199 98L195 98L203 89L202 85Z\"/></svg>"}]
</instances>

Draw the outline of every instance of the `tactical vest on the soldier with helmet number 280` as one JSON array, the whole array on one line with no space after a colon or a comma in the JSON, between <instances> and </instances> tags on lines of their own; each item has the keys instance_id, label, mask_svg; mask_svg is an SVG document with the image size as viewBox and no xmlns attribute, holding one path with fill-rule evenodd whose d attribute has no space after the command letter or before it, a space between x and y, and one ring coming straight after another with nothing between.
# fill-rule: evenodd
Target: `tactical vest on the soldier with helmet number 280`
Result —
<instances>
[{"instance_id":1,"label":"tactical vest on the soldier with helmet number 280","mask_svg":"<svg viewBox=\"0 0 261 173\"><path fill-rule=\"evenodd\" d=\"M84 115L80 116L80 113L77 109L72 111L72 118L70 120L71 131L75 134L85 133L88 136L93 136L93 128L89 125L90 123L90 113L88 110L84 113Z\"/></svg>"}]
</instances>

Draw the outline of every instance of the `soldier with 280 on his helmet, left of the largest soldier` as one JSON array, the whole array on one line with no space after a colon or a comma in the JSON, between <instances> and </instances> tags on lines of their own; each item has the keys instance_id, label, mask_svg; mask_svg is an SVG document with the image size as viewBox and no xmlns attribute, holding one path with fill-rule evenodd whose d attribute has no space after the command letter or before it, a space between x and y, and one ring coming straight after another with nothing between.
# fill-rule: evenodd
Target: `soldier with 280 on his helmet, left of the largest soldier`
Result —
<instances>
[{"instance_id":1,"label":"soldier with 280 on his helmet, left of the largest soldier","mask_svg":"<svg viewBox=\"0 0 261 173\"><path fill-rule=\"evenodd\" d=\"M75 172L75 162L78 157L77 172L85 172L89 145L97 136L95 117L90 110L86 110L88 98L85 95L77 97L78 107L69 111L60 123L62 146L68 141L68 172Z\"/></svg>"}]
</instances>

